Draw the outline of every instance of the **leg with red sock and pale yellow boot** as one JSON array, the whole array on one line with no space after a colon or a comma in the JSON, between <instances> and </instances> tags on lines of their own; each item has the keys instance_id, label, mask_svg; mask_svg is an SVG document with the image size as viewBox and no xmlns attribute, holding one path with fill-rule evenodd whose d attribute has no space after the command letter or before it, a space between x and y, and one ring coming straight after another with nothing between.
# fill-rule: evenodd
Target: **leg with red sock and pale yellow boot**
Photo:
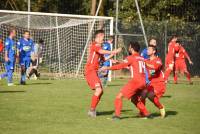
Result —
<instances>
[{"instance_id":1,"label":"leg with red sock and pale yellow boot","mask_svg":"<svg viewBox=\"0 0 200 134\"><path fill-rule=\"evenodd\" d=\"M161 118L165 118L165 108L160 103L159 98L155 95L153 91L149 92L148 99L160 110Z\"/></svg>"}]
</instances>

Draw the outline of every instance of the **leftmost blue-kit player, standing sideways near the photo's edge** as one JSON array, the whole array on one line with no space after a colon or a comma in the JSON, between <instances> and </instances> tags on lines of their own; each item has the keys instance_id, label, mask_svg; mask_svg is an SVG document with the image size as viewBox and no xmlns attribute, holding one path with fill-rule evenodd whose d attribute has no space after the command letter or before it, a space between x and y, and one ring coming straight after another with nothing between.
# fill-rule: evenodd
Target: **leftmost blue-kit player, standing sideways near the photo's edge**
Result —
<instances>
[{"instance_id":1,"label":"leftmost blue-kit player, standing sideways near the photo's edge","mask_svg":"<svg viewBox=\"0 0 200 134\"><path fill-rule=\"evenodd\" d=\"M13 72L15 67L15 52L16 43L14 38L16 36L15 29L11 29L9 37L5 40L5 69L6 72L1 74L0 79L7 77L8 86L13 86Z\"/></svg>"}]
</instances>

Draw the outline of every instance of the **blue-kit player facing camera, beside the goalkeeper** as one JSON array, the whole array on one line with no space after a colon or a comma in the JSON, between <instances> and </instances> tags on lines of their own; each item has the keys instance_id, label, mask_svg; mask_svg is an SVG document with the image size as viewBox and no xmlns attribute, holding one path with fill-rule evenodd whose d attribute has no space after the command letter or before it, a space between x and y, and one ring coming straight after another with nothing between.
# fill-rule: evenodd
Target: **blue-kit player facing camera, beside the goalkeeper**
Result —
<instances>
[{"instance_id":1,"label":"blue-kit player facing camera, beside the goalkeeper","mask_svg":"<svg viewBox=\"0 0 200 134\"><path fill-rule=\"evenodd\" d=\"M25 31L24 37L22 37L18 43L18 55L19 55L19 63L21 66L21 80L20 84L26 84L26 71L30 67L31 55L34 52L34 42L30 38L30 32Z\"/></svg>"}]
</instances>

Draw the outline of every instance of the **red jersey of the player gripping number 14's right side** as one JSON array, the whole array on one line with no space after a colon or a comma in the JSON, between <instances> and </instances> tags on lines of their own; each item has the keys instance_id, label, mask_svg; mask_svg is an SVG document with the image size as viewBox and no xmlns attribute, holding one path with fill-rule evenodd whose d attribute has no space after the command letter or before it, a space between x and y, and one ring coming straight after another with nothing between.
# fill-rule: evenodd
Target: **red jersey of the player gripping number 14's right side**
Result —
<instances>
[{"instance_id":1,"label":"red jersey of the player gripping number 14's right side","mask_svg":"<svg viewBox=\"0 0 200 134\"><path fill-rule=\"evenodd\" d=\"M160 58L156 57L153 60L146 60L146 68L151 83L164 81L164 74L162 72L162 61Z\"/></svg>"}]
</instances>

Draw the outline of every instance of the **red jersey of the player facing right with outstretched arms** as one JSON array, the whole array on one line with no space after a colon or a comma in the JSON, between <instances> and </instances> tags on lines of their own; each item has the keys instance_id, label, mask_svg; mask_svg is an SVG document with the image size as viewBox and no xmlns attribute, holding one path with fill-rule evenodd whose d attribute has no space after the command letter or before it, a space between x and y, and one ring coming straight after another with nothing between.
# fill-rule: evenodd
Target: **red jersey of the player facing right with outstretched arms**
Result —
<instances>
[{"instance_id":1,"label":"red jersey of the player facing right with outstretched arms","mask_svg":"<svg viewBox=\"0 0 200 134\"><path fill-rule=\"evenodd\" d=\"M101 50L101 46L97 45L96 42L92 42L90 46L90 52L87 59L87 63L85 66L85 70L98 70L99 69L99 61L100 58L103 57L102 54L99 53Z\"/></svg>"}]
</instances>

